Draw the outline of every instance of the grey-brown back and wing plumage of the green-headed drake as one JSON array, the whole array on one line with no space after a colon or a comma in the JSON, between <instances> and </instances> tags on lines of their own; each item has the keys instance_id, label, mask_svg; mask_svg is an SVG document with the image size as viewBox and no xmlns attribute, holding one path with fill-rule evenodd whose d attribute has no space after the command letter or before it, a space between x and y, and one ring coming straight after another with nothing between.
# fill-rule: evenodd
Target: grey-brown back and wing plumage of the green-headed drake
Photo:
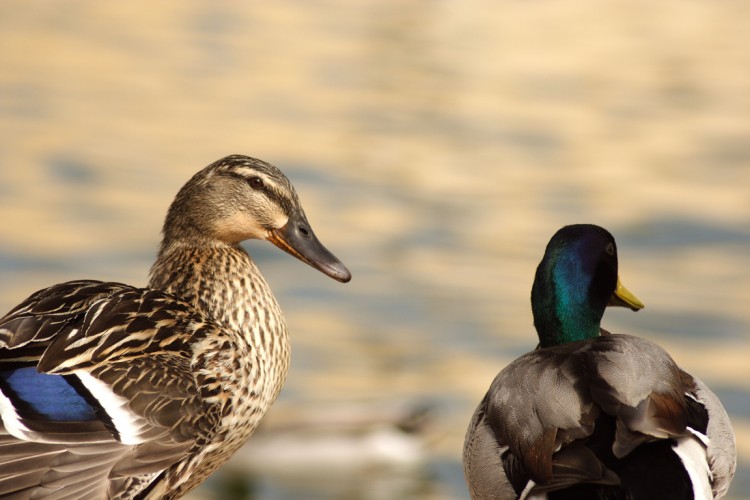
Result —
<instances>
[{"instance_id":1,"label":"grey-brown back and wing plumage of the green-headed drake","mask_svg":"<svg viewBox=\"0 0 750 500\"><path fill-rule=\"evenodd\" d=\"M726 458L734 456L726 453L734 450L734 436L716 396L696 384L709 406L715 491L725 491L728 479L721 478L731 478L734 470ZM591 450L574 442L592 434L602 411L616 417L612 449L618 457L644 442L690 436L688 389L666 351L628 335L608 334L525 354L497 375L469 426L464 460L472 494L493 498L488 492L499 491L498 485L510 488L501 460L506 449L521 460L537 493L577 482L617 484ZM515 495L512 488L508 491L498 497Z\"/></svg>"}]
</instances>

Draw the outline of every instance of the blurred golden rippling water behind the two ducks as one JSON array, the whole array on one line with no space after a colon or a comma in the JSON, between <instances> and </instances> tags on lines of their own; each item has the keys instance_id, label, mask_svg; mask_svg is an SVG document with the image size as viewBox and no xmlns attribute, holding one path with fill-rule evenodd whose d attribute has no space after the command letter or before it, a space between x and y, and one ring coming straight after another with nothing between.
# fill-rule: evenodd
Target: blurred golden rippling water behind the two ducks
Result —
<instances>
[{"instance_id":1,"label":"blurred golden rippling water behind the two ducks","mask_svg":"<svg viewBox=\"0 0 750 500\"><path fill-rule=\"evenodd\" d=\"M172 197L230 153L281 167L354 275L247 244L292 368L191 498L468 498L464 429L576 222L647 305L604 325L718 393L750 497L750 2L5 1L0 46L2 312L144 284Z\"/></svg>"}]
</instances>

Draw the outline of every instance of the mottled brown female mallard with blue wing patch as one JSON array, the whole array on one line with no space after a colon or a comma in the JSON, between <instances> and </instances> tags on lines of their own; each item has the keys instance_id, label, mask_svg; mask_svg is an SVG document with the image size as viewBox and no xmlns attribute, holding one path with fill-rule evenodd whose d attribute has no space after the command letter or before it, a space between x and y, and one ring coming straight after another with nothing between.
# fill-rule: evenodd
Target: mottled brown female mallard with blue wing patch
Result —
<instances>
[{"instance_id":1,"label":"mottled brown female mallard with blue wing patch","mask_svg":"<svg viewBox=\"0 0 750 500\"><path fill-rule=\"evenodd\" d=\"M289 365L249 238L351 277L284 174L236 155L177 194L147 288L72 281L0 319L0 496L177 498L248 439Z\"/></svg>"}]
</instances>

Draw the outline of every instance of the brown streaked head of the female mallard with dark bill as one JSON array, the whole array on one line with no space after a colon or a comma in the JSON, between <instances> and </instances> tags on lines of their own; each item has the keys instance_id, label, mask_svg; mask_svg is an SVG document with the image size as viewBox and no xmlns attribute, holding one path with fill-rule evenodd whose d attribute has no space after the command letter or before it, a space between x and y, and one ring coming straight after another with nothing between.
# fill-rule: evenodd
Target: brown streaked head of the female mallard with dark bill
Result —
<instances>
[{"instance_id":1,"label":"brown streaked head of the female mallard with dark bill","mask_svg":"<svg viewBox=\"0 0 750 500\"><path fill-rule=\"evenodd\" d=\"M335 280L351 279L315 236L289 179L247 156L227 156L195 174L169 208L163 233L162 251L268 240Z\"/></svg>"}]
</instances>

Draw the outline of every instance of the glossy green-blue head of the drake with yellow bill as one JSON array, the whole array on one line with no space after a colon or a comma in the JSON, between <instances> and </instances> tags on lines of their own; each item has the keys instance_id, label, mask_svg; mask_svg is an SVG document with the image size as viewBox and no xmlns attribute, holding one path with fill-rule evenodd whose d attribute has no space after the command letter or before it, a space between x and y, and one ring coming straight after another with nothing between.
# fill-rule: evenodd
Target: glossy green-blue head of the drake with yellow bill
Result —
<instances>
[{"instance_id":1,"label":"glossy green-blue head of the drake with yellow bill","mask_svg":"<svg viewBox=\"0 0 750 500\"><path fill-rule=\"evenodd\" d=\"M608 305L644 307L620 282L615 239L592 224L563 227L547 244L531 289L540 346L597 337Z\"/></svg>"}]
</instances>

